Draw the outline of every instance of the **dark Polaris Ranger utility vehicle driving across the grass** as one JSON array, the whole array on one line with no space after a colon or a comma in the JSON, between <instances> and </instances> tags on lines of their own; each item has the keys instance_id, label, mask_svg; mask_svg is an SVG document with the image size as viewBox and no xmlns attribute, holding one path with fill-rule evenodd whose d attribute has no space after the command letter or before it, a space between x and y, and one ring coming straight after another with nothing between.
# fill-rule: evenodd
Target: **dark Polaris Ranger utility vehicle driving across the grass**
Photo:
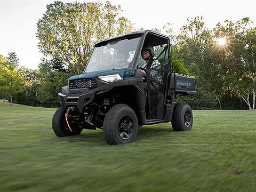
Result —
<instances>
[{"instance_id":1,"label":"dark Polaris Ranger utility vehicle driving across the grass","mask_svg":"<svg viewBox=\"0 0 256 192\"><path fill-rule=\"evenodd\" d=\"M148 46L159 65L145 69L141 50ZM126 67L118 53L126 55ZM146 77L142 78L142 70ZM162 84L151 78L153 71ZM174 131L187 131L193 124L191 108L174 99L193 94L195 77L172 71L169 37L136 31L94 45L83 74L69 77L68 86L58 94L61 107L52 118L52 129L58 137L66 137L99 128L109 145L133 142L142 125L171 122Z\"/></svg>"}]
</instances>

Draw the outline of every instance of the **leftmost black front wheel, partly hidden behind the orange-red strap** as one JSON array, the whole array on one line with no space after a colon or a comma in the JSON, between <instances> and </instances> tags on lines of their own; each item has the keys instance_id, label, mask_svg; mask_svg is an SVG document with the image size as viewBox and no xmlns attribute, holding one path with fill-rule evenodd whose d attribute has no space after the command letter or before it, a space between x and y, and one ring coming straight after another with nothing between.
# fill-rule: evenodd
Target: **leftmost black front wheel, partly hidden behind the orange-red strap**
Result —
<instances>
[{"instance_id":1,"label":"leftmost black front wheel, partly hidden behind the orange-red strap","mask_svg":"<svg viewBox=\"0 0 256 192\"><path fill-rule=\"evenodd\" d=\"M78 135L82 132L83 129L75 127L75 129L73 129L71 132L65 119L65 112L62 111L62 107L60 107L52 117L52 130L58 137L66 137L71 135Z\"/></svg>"}]
</instances>

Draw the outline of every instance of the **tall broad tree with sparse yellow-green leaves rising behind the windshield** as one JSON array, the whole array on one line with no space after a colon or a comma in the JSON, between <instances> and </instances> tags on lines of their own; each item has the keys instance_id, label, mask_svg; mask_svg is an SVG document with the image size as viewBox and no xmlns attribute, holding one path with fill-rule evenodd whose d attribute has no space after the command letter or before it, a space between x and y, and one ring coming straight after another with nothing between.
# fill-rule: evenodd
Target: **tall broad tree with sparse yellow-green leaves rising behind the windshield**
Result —
<instances>
[{"instance_id":1,"label":"tall broad tree with sparse yellow-green leaves rising behind the windshield","mask_svg":"<svg viewBox=\"0 0 256 192\"><path fill-rule=\"evenodd\" d=\"M37 22L38 47L45 56L60 60L73 73L81 73L93 44L128 33L132 23L121 16L121 6L101 3L54 2Z\"/></svg>"}]
</instances>

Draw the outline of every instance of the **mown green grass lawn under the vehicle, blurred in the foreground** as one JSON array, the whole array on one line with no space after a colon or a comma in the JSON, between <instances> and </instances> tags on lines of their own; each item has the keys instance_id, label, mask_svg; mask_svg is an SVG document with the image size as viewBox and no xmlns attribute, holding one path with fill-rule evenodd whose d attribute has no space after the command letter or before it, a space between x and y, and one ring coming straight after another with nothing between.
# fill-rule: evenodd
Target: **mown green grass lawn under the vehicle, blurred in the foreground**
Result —
<instances>
[{"instance_id":1,"label":"mown green grass lawn under the vehicle, blurred in the foreground","mask_svg":"<svg viewBox=\"0 0 256 192\"><path fill-rule=\"evenodd\" d=\"M0 191L256 191L256 110L198 110L193 129L58 138L55 109L0 103Z\"/></svg>"}]
</instances>

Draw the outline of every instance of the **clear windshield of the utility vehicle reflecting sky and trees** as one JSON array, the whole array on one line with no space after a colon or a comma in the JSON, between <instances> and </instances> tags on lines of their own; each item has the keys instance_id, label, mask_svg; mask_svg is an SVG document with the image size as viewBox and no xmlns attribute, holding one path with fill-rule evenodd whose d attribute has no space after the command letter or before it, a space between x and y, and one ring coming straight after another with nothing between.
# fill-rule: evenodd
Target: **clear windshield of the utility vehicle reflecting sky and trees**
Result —
<instances>
[{"instance_id":1,"label":"clear windshield of the utility vehicle reflecting sky and trees","mask_svg":"<svg viewBox=\"0 0 256 192\"><path fill-rule=\"evenodd\" d=\"M84 73L97 70L131 68L139 37L118 39L95 46Z\"/></svg>"}]
</instances>

